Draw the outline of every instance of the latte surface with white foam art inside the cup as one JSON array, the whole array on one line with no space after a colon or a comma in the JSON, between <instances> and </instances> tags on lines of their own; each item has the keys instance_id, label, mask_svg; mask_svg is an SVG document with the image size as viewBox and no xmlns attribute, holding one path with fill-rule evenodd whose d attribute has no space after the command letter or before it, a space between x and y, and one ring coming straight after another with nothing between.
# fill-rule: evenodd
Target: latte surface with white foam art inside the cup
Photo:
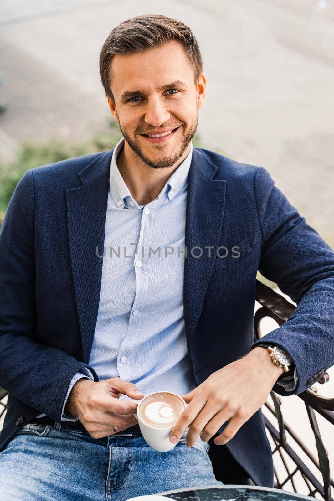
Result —
<instances>
[{"instance_id":1,"label":"latte surface with white foam art inside the cup","mask_svg":"<svg viewBox=\"0 0 334 501\"><path fill-rule=\"evenodd\" d=\"M177 395L160 392L144 398L139 415L149 426L165 428L176 423L184 408L183 401Z\"/></svg>"}]
</instances>

